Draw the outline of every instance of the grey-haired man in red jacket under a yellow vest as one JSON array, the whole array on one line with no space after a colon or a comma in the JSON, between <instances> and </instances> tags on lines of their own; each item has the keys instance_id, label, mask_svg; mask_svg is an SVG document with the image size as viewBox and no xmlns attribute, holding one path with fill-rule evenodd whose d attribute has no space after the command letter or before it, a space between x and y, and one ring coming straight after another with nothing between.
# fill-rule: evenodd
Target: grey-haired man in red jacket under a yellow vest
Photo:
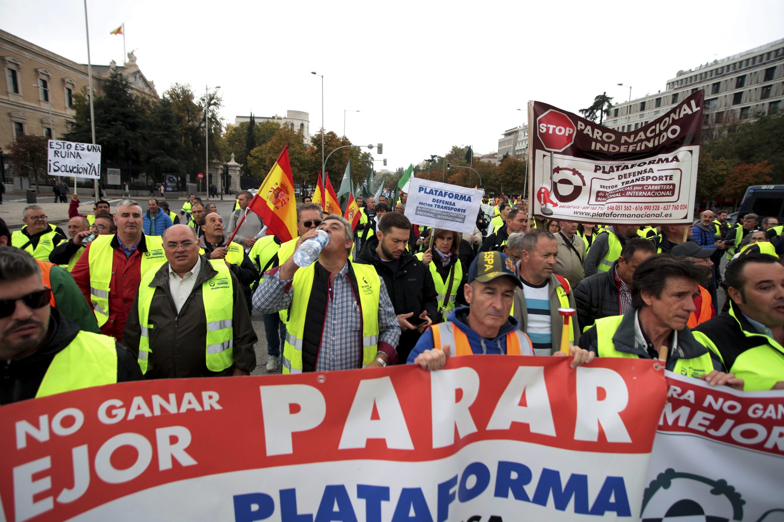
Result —
<instances>
[{"instance_id":1,"label":"grey-haired man in red jacket under a yellow vest","mask_svg":"<svg viewBox=\"0 0 784 522\"><path fill-rule=\"evenodd\" d=\"M142 232L139 203L122 200L114 214L117 234L98 236L76 261L71 275L82 290L101 332L122 337L142 275L165 262L161 236Z\"/></svg>"}]
</instances>

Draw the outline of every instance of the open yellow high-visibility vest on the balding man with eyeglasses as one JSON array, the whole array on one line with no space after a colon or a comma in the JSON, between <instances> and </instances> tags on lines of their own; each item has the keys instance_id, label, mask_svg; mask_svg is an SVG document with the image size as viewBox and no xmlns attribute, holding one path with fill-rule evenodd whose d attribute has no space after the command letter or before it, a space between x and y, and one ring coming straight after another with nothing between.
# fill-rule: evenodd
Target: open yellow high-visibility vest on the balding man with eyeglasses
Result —
<instances>
[{"instance_id":1,"label":"open yellow high-visibility vest on the balding man with eyeglasses","mask_svg":"<svg viewBox=\"0 0 784 522\"><path fill-rule=\"evenodd\" d=\"M204 302L205 327L207 329L207 369L220 372L234 364L234 285L231 281L231 272L223 263L223 259L209 261L212 268L218 273L201 284L201 299ZM150 322L150 304L155 293L155 287L150 286L156 272L147 272L139 284L139 324L141 337L139 338L139 367L142 373L149 369L149 358L152 353L150 347L150 331L155 325ZM245 306L243 304L243 306Z\"/></svg>"}]
</instances>

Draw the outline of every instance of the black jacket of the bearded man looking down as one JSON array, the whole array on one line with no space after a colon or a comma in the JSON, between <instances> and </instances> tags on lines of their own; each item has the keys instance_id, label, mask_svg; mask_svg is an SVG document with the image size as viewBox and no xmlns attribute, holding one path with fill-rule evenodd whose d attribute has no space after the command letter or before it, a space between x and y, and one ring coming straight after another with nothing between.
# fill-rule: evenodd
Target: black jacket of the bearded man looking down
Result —
<instances>
[{"instance_id":1,"label":"black jacket of the bearded man looking down","mask_svg":"<svg viewBox=\"0 0 784 522\"><path fill-rule=\"evenodd\" d=\"M372 245L378 246L378 240L374 242L368 239L367 247L362 248L357 256L357 262L373 265L376 268L379 277L387 285L394 313L400 315L413 312L412 317L416 318L426 310L427 316L435 320L438 311L437 293L433 278L430 277L430 269L412 254L403 252L397 265L397 272L393 273L389 266L381 261ZM401 362L405 362L408 358L408 354L419 340L419 335L416 329L401 333L400 340L397 341L397 355Z\"/></svg>"}]
</instances>

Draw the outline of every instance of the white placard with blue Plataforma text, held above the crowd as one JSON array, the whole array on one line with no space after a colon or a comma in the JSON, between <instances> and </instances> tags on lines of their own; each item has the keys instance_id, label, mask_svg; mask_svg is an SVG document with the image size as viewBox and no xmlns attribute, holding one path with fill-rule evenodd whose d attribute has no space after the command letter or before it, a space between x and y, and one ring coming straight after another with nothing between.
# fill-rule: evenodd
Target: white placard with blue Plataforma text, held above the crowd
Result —
<instances>
[{"instance_id":1,"label":"white placard with blue Plataforma text, held above the crowd","mask_svg":"<svg viewBox=\"0 0 784 522\"><path fill-rule=\"evenodd\" d=\"M405 217L434 229L474 233L482 191L448 183L411 178Z\"/></svg>"}]
</instances>

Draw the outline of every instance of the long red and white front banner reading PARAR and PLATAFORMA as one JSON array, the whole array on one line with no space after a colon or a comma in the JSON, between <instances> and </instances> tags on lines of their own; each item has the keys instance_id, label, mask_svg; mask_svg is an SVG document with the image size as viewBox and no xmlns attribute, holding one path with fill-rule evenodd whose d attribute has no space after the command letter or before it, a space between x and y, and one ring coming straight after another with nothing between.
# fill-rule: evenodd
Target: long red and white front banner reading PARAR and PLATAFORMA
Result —
<instances>
[{"instance_id":1,"label":"long red and white front banner reading PARAR and PLATAFORMA","mask_svg":"<svg viewBox=\"0 0 784 522\"><path fill-rule=\"evenodd\" d=\"M15 522L636 516L665 401L653 364L483 355L434 373L156 380L24 401L0 408L0 500Z\"/></svg>"}]
</instances>

